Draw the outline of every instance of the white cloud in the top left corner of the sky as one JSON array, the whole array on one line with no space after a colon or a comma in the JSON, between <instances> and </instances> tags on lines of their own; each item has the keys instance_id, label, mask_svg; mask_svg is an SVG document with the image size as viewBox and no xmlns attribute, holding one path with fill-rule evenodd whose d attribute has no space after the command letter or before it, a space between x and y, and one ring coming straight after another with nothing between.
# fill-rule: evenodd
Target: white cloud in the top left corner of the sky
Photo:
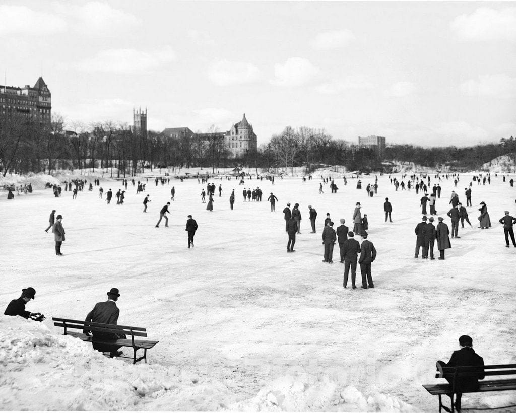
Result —
<instances>
[{"instance_id":1,"label":"white cloud in the top left corner of the sky","mask_svg":"<svg viewBox=\"0 0 516 413\"><path fill-rule=\"evenodd\" d=\"M66 31L62 16L35 11L26 6L0 6L0 35L54 35Z\"/></svg>"}]
</instances>

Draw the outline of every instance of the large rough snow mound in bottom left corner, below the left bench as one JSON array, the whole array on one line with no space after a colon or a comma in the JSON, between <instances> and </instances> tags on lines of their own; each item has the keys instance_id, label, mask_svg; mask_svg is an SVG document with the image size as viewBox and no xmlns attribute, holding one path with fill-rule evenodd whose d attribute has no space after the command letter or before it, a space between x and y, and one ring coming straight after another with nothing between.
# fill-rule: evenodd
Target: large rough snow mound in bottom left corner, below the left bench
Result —
<instances>
[{"instance_id":1,"label":"large rough snow mound in bottom left corner, below the left bench","mask_svg":"<svg viewBox=\"0 0 516 413\"><path fill-rule=\"evenodd\" d=\"M0 369L3 410L216 410L232 395L175 367L106 358L21 317L0 316Z\"/></svg>"}]
</instances>

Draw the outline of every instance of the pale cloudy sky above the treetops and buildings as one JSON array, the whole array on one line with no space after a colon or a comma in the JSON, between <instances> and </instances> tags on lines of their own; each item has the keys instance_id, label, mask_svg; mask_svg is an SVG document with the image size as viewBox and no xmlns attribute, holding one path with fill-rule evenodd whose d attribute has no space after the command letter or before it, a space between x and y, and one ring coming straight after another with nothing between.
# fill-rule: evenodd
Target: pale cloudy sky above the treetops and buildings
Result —
<instances>
[{"instance_id":1,"label":"pale cloudy sky above the treetops and buildings","mask_svg":"<svg viewBox=\"0 0 516 413\"><path fill-rule=\"evenodd\" d=\"M424 146L516 134L516 3L0 1L0 71L69 121L286 125ZM3 75L3 73L2 73ZM4 79L0 80L0 84Z\"/></svg>"}]
</instances>

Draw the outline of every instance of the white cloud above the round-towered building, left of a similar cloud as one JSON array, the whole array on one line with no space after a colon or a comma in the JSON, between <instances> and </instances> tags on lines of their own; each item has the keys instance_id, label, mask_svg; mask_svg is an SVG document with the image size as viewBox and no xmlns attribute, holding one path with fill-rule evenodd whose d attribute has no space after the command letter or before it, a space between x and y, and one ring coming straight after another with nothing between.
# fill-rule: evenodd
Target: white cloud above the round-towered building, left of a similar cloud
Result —
<instances>
[{"instance_id":1,"label":"white cloud above the round-towered building, left of a similar cloud","mask_svg":"<svg viewBox=\"0 0 516 413\"><path fill-rule=\"evenodd\" d=\"M251 63L219 60L208 70L208 78L218 86L243 85L260 80L260 70Z\"/></svg>"}]
</instances>

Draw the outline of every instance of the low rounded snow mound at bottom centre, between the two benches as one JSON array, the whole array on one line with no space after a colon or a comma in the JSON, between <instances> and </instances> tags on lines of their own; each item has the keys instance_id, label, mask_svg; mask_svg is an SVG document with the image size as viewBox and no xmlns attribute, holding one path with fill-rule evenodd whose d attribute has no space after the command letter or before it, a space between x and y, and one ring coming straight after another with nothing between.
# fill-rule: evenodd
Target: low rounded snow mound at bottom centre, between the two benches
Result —
<instances>
[{"instance_id":1,"label":"low rounded snow mound at bottom centre, between the two benches","mask_svg":"<svg viewBox=\"0 0 516 413\"><path fill-rule=\"evenodd\" d=\"M353 386L333 381L328 374L283 376L260 390L256 397L229 406L239 411L392 411L413 412L414 407L390 395L366 398Z\"/></svg>"}]
</instances>

